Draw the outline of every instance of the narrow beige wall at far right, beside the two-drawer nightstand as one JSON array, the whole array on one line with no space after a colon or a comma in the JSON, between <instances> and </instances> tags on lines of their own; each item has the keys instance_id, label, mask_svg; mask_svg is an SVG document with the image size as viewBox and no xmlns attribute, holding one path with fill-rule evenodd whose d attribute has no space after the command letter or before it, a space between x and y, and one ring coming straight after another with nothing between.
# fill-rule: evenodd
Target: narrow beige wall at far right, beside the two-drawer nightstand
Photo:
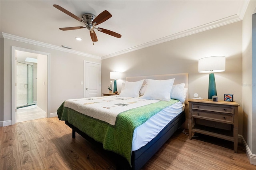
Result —
<instances>
[{"instance_id":1,"label":"narrow beige wall at far right, beside the two-drawer nightstand","mask_svg":"<svg viewBox=\"0 0 256 170\"><path fill-rule=\"evenodd\" d=\"M252 154L256 154L256 112L255 97L253 100L252 71L256 69L256 63L252 63L252 14L256 8L256 1L250 1L243 18L242 37L242 106L243 106L243 137ZM255 46L255 45L254 45ZM255 60L254 60L255 61ZM254 78L255 79L255 78ZM254 103L253 103L254 102ZM253 110L254 109L254 110ZM256 162L255 162L256 163Z\"/></svg>"}]
</instances>

